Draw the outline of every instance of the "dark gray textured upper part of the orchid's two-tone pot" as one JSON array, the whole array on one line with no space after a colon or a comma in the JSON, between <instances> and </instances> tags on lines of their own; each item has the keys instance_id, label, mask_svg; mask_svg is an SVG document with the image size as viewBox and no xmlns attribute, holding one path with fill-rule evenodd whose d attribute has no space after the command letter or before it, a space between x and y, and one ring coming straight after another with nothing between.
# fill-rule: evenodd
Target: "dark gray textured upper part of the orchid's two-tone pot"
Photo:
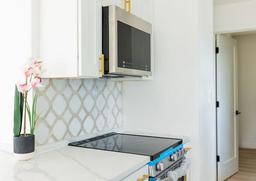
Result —
<instances>
[{"instance_id":1,"label":"dark gray textured upper part of the orchid's two-tone pot","mask_svg":"<svg viewBox=\"0 0 256 181\"><path fill-rule=\"evenodd\" d=\"M13 152L18 154L35 151L35 136L13 137Z\"/></svg>"}]
</instances>

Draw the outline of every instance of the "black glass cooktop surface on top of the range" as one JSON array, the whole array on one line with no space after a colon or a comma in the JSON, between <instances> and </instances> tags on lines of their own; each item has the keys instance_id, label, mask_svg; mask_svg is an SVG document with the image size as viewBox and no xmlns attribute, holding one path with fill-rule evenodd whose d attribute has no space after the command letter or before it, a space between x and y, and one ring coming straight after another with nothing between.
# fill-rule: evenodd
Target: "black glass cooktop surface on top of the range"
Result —
<instances>
[{"instance_id":1,"label":"black glass cooktop surface on top of the range","mask_svg":"<svg viewBox=\"0 0 256 181\"><path fill-rule=\"evenodd\" d=\"M150 156L154 160L164 151L182 144L182 139L140 136L132 134L119 134L111 132L94 138L81 140L68 144L83 148L118 151Z\"/></svg>"}]
</instances>

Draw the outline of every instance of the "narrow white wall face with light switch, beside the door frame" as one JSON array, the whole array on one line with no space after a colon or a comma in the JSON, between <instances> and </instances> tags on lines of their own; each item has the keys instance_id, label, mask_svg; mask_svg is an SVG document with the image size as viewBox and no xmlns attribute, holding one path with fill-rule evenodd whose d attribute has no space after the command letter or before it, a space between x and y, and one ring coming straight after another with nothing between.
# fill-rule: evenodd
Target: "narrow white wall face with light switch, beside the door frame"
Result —
<instances>
[{"instance_id":1,"label":"narrow white wall face with light switch, beside the door frame","mask_svg":"<svg viewBox=\"0 0 256 181\"><path fill-rule=\"evenodd\" d=\"M198 0L200 181L216 180L216 81L214 49L212 1Z\"/></svg>"}]
</instances>

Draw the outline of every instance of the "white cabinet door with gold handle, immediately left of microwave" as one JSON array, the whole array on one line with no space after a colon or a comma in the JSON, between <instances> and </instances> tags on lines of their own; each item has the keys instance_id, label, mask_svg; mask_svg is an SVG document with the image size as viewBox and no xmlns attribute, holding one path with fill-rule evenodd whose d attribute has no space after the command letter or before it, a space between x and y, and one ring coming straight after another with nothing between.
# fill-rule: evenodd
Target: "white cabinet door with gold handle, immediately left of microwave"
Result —
<instances>
[{"instance_id":1,"label":"white cabinet door with gold handle, immediately left of microwave","mask_svg":"<svg viewBox=\"0 0 256 181\"><path fill-rule=\"evenodd\" d=\"M101 0L78 0L78 76L102 77L101 56Z\"/></svg>"}]
</instances>

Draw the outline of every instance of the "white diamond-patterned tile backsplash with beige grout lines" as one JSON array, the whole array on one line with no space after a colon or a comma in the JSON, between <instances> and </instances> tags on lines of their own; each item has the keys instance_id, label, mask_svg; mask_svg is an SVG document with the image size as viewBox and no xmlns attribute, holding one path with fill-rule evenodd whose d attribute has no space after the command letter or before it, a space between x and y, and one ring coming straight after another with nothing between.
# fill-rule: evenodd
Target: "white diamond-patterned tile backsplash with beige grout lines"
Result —
<instances>
[{"instance_id":1,"label":"white diamond-patterned tile backsplash with beige grout lines","mask_svg":"<svg viewBox=\"0 0 256 181\"><path fill-rule=\"evenodd\" d=\"M122 127L122 83L110 79L42 79L36 146Z\"/></svg>"}]
</instances>

